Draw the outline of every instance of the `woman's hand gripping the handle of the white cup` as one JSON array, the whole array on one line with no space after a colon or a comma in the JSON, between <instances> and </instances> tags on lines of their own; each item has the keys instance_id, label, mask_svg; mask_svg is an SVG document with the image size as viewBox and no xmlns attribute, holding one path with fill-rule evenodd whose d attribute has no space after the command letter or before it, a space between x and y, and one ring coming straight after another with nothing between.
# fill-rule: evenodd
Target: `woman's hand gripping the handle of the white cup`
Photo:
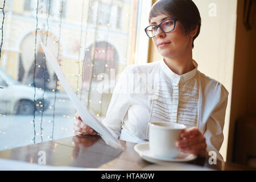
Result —
<instances>
[{"instance_id":1,"label":"woman's hand gripping the handle of the white cup","mask_svg":"<svg viewBox=\"0 0 256 182\"><path fill-rule=\"evenodd\" d=\"M176 146L181 152L206 156L207 144L205 142L205 137L197 127L185 129L180 134L180 138L180 140L177 140Z\"/></svg>"}]
</instances>

